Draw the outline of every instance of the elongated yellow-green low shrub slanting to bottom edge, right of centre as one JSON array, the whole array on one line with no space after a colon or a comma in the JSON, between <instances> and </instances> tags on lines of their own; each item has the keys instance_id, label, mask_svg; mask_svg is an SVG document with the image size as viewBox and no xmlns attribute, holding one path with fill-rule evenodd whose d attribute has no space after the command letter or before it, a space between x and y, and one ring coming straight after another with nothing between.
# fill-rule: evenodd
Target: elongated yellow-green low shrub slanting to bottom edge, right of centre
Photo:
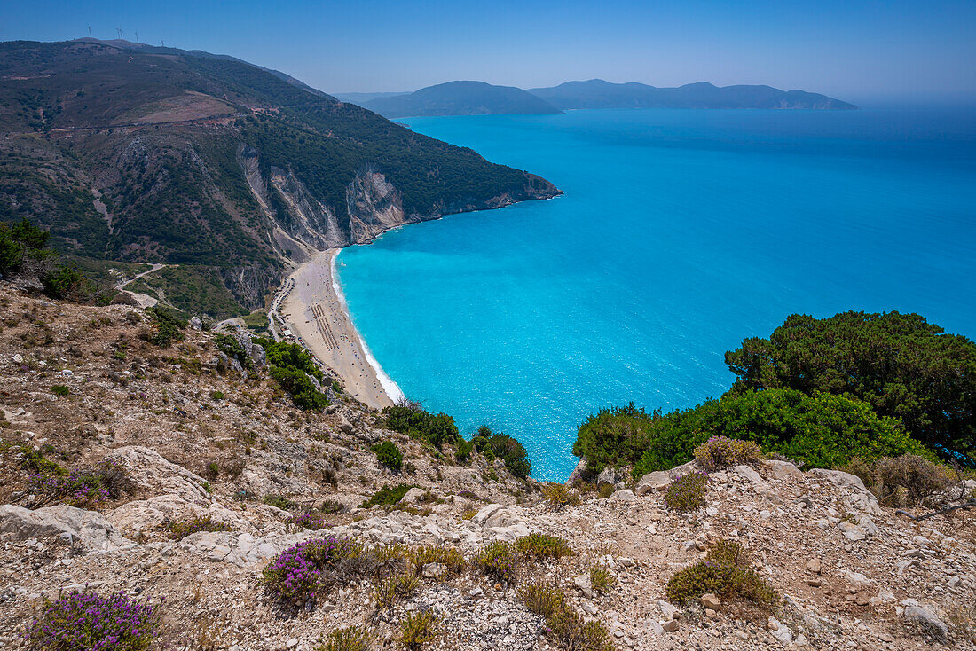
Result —
<instances>
[{"instance_id":1,"label":"elongated yellow-green low shrub slanting to bottom edge, right of centre","mask_svg":"<svg viewBox=\"0 0 976 651\"><path fill-rule=\"evenodd\" d=\"M547 633L571 651L613 651L610 634L598 621L584 622L562 590L542 582L523 586L518 595L525 607L546 618Z\"/></svg>"}]
</instances>

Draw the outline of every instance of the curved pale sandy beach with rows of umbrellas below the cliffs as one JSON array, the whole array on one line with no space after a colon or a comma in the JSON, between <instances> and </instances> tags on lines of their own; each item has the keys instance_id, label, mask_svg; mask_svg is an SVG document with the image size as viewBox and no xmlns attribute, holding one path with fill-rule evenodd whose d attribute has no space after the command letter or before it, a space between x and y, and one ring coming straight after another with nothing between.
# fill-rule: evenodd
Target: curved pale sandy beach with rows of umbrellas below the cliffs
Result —
<instances>
[{"instance_id":1,"label":"curved pale sandy beach with rows of umbrellas below the cliffs","mask_svg":"<svg viewBox=\"0 0 976 651\"><path fill-rule=\"evenodd\" d=\"M279 313L292 333L335 371L357 400L382 409L402 396L365 345L334 274L339 249L324 251L291 276L294 286Z\"/></svg>"}]
</instances>

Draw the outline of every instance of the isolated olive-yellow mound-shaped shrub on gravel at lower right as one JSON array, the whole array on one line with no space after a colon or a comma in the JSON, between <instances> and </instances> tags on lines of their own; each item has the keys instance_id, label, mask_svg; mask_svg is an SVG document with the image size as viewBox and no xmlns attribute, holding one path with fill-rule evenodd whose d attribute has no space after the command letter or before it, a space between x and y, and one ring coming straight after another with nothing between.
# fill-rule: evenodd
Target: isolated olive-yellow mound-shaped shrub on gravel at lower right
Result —
<instances>
[{"instance_id":1,"label":"isolated olive-yellow mound-shaped shrub on gravel at lower right","mask_svg":"<svg viewBox=\"0 0 976 651\"><path fill-rule=\"evenodd\" d=\"M668 600L684 603L712 592L725 600L748 601L772 609L779 595L749 567L749 559L736 543L720 541L704 561L679 570L668 582Z\"/></svg>"}]
</instances>

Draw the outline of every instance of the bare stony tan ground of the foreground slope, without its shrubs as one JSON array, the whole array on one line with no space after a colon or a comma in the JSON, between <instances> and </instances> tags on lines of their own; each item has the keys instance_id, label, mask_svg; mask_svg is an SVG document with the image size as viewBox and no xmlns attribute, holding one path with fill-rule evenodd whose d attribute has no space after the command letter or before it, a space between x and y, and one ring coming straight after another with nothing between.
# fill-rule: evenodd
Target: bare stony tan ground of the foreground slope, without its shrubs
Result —
<instances>
[{"instance_id":1,"label":"bare stony tan ground of the foreground slope, without its shrubs","mask_svg":"<svg viewBox=\"0 0 976 651\"><path fill-rule=\"evenodd\" d=\"M459 465L342 393L323 413L303 412L261 369L222 360L211 333L190 329L159 348L140 338L139 308L0 292L2 648L26 647L42 595L86 586L161 603L159 648L309 651L350 625L396 648L399 623L421 611L436 615L429 648L561 648L518 594L541 580L617 649L976 649L973 509L915 521L879 506L854 475L782 461L712 472L706 506L691 513L669 510L663 491L693 465L637 482L611 471L603 479L616 490L584 489L560 507L502 462ZM403 451L399 472L370 449L384 440ZM24 469L31 451L64 468L115 460L128 486L97 509L46 499ZM413 486L399 502L361 506L399 484ZM322 528L305 529L303 511ZM221 530L174 535L174 523L206 516ZM450 547L469 561L530 533L573 553L526 562L510 582L427 563L419 589L389 608L365 580L297 612L262 583L276 554L325 535ZM713 595L667 600L671 576L719 540L749 549L781 596L772 611ZM594 586L593 568L609 581Z\"/></svg>"}]
</instances>

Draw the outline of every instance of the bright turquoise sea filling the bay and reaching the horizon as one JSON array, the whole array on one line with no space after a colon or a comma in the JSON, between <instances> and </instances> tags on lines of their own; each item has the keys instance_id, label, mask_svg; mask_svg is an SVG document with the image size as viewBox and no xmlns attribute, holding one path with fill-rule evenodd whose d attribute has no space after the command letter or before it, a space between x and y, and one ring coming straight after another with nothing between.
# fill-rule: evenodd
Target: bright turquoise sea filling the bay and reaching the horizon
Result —
<instances>
[{"instance_id":1,"label":"bright turquoise sea filling the bay and reaching the horizon","mask_svg":"<svg viewBox=\"0 0 976 651\"><path fill-rule=\"evenodd\" d=\"M407 120L565 195L346 249L386 373L563 479L576 427L720 395L793 312L915 311L976 336L976 111L589 110Z\"/></svg>"}]
</instances>

